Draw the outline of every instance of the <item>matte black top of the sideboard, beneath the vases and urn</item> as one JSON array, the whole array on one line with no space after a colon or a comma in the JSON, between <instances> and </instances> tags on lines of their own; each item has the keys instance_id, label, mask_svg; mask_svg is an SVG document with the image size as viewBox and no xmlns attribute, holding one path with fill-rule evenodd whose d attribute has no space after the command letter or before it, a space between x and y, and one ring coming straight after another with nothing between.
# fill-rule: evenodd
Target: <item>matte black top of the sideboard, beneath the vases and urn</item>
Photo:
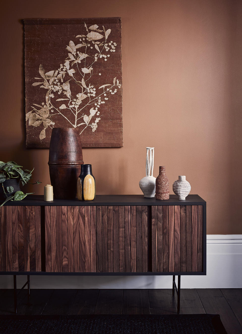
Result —
<instances>
[{"instance_id":1,"label":"matte black top of the sideboard, beneath the vases and urn","mask_svg":"<svg viewBox=\"0 0 242 334\"><path fill-rule=\"evenodd\" d=\"M0 201L1 203L1 201ZM188 195L185 200L179 200L177 195L170 195L167 200L157 200L155 197L143 195L96 195L93 201L78 199L54 199L44 201L43 195L28 195L21 201L8 201L4 205L43 205L43 206L83 206L83 205L205 205L206 201L199 195Z\"/></svg>"}]
</instances>

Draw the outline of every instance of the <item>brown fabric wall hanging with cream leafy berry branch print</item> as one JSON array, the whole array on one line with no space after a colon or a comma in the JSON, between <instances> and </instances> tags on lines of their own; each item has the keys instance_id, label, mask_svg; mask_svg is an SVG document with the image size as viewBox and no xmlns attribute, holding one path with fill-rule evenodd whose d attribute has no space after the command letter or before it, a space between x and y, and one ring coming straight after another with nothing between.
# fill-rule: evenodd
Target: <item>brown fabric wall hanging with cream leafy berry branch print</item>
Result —
<instances>
[{"instance_id":1,"label":"brown fabric wall hanging with cream leafy berry branch print","mask_svg":"<svg viewBox=\"0 0 242 334\"><path fill-rule=\"evenodd\" d=\"M54 127L83 147L123 146L121 19L26 19L26 146L49 147Z\"/></svg>"}]
</instances>

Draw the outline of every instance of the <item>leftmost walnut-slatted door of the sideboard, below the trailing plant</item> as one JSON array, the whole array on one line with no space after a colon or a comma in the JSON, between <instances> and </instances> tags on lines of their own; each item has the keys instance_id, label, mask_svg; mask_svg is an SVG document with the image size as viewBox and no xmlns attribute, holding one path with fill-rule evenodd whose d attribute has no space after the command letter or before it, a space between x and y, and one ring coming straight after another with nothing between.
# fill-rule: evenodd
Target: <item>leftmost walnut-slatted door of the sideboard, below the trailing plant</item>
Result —
<instances>
[{"instance_id":1,"label":"leftmost walnut-slatted door of the sideboard, below the trailing plant","mask_svg":"<svg viewBox=\"0 0 242 334\"><path fill-rule=\"evenodd\" d=\"M41 271L40 206L2 206L0 222L0 271Z\"/></svg>"}]
</instances>

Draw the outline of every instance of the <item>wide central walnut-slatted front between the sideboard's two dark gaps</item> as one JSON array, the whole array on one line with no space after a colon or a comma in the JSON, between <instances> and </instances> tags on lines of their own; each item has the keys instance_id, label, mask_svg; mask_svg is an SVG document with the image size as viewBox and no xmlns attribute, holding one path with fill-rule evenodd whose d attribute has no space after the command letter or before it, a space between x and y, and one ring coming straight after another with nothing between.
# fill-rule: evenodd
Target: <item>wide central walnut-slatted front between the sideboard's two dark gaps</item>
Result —
<instances>
[{"instance_id":1,"label":"wide central walnut-slatted front between the sideboard's two dark gaps","mask_svg":"<svg viewBox=\"0 0 242 334\"><path fill-rule=\"evenodd\" d=\"M45 252L48 272L147 272L147 206L46 206Z\"/></svg>"}]
</instances>

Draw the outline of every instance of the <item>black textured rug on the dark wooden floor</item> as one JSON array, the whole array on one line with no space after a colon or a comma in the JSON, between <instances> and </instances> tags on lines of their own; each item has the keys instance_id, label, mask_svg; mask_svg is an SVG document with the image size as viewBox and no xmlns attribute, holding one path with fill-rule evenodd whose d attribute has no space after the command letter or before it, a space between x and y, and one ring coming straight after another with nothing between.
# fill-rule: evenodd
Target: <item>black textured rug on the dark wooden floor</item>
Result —
<instances>
[{"instance_id":1,"label":"black textured rug on the dark wooden floor","mask_svg":"<svg viewBox=\"0 0 242 334\"><path fill-rule=\"evenodd\" d=\"M226 334L219 315L0 316L5 334Z\"/></svg>"}]
</instances>

